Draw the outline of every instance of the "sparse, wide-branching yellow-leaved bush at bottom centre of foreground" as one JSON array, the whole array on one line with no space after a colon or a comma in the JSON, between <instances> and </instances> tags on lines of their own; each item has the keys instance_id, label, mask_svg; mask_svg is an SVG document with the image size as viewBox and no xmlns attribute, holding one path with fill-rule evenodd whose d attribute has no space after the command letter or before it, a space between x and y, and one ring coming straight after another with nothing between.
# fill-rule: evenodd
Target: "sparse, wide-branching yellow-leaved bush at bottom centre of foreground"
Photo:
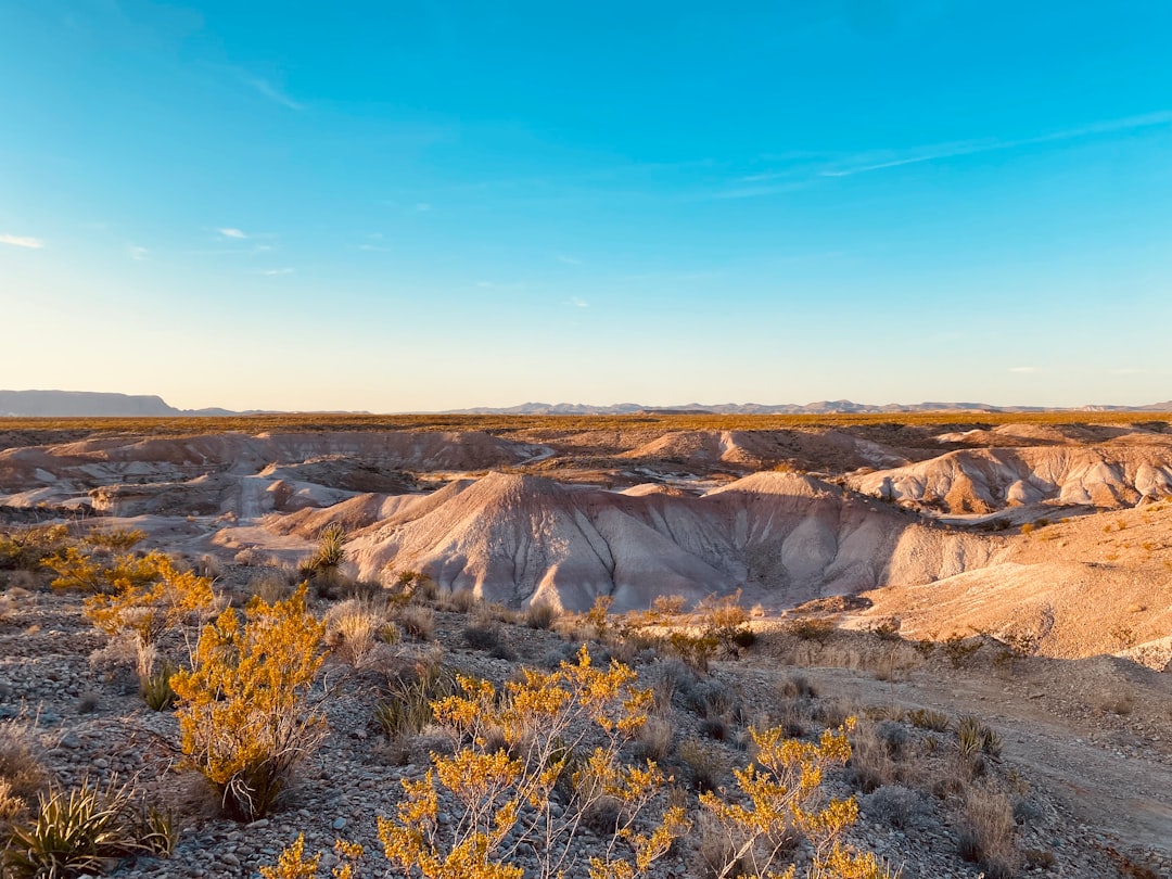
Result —
<instances>
[{"instance_id":1,"label":"sparse, wide-branching yellow-leaved bush at bottom centre of foreground","mask_svg":"<svg viewBox=\"0 0 1172 879\"><path fill-rule=\"evenodd\" d=\"M523 871L512 861L524 845L538 858L540 875L581 874L575 836L587 819L614 817L609 844L591 858L590 874L645 874L687 824L682 809L655 808L665 779L654 764L620 759L652 701L634 680L618 663L595 668L585 648L577 665L526 669L503 694L486 681L461 677L463 695L438 701L434 710L464 744L451 756L432 755L425 778L403 782L397 816L379 818L386 857L424 879L519 879ZM570 796L553 809L554 785L565 774L572 776ZM461 813L443 827L435 820L441 790ZM619 853L620 843L632 850L631 859Z\"/></svg>"}]
</instances>

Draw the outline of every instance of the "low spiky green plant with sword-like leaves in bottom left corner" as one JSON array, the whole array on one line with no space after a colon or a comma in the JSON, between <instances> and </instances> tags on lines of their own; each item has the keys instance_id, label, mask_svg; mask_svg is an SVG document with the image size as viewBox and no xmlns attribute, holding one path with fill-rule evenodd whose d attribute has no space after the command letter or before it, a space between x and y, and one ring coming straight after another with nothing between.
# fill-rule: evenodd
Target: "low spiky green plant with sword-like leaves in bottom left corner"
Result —
<instances>
[{"instance_id":1,"label":"low spiky green plant with sword-like leaves in bottom left corner","mask_svg":"<svg viewBox=\"0 0 1172 879\"><path fill-rule=\"evenodd\" d=\"M135 854L170 854L176 831L170 817L136 802L127 785L104 788L86 779L71 790L40 797L36 817L12 830L4 852L5 875L55 879L101 873Z\"/></svg>"}]
</instances>

